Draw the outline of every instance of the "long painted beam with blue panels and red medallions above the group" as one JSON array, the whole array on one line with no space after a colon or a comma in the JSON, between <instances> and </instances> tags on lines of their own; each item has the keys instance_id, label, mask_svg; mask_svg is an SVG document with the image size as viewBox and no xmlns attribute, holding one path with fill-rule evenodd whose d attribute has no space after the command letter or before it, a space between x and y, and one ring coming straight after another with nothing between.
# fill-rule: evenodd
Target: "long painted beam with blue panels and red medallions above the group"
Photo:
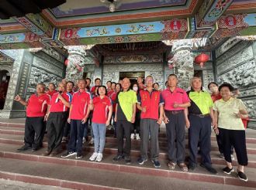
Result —
<instances>
[{"instance_id":1,"label":"long painted beam with blue panels and red medallions above the group","mask_svg":"<svg viewBox=\"0 0 256 190\"><path fill-rule=\"evenodd\" d=\"M74 29L54 29L51 39L33 32L0 35L1 49L81 46L120 42L149 42L175 39L250 36L256 33L256 13L223 15L214 27L196 29L195 18L171 19L159 22L139 22Z\"/></svg>"}]
</instances>

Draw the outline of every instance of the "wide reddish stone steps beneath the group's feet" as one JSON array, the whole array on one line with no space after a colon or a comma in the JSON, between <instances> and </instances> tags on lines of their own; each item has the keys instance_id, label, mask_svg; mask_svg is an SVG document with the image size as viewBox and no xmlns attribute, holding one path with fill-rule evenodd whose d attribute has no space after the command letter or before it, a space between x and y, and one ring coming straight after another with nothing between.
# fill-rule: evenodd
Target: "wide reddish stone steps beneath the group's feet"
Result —
<instances>
[{"instance_id":1,"label":"wide reddish stone steps beneath the group's feet","mask_svg":"<svg viewBox=\"0 0 256 190\"><path fill-rule=\"evenodd\" d=\"M222 168L225 161L218 157L216 137L212 136L213 143L211 157L217 175L210 175L204 168L198 166L193 172L182 172L177 167L174 171L168 169L167 140L164 134L160 137L161 168L154 168L150 161L144 165L137 164L140 155L140 141L132 141L132 164L124 161L112 163L117 153L116 138L106 137L106 148L102 162L88 161L94 151L93 146L84 146L84 158L61 158L64 151L56 157L44 157L47 138L39 151L18 152L17 148L23 144L24 124L5 124L0 122L0 178L10 178L20 182L30 182L42 185L54 185L63 188L76 189L244 189L256 187L256 146L255 139L249 138L247 150L249 165L245 168L248 182L242 182L236 174L225 175ZM24 132L23 132L24 133ZM186 154L188 154L186 150ZM237 161L234 161L234 166ZM237 168L236 166L234 167ZM82 176L82 177L81 177ZM103 177L102 177L103 176ZM100 178L99 178L100 177Z\"/></svg>"}]
</instances>

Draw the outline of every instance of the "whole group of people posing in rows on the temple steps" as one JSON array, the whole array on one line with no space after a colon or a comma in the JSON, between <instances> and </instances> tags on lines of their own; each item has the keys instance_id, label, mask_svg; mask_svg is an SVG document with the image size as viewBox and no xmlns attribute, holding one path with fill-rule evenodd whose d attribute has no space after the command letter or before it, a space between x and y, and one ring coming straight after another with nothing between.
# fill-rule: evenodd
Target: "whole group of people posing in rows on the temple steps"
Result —
<instances>
[{"instance_id":1,"label":"whole group of people posing in rows on the temple steps","mask_svg":"<svg viewBox=\"0 0 256 190\"><path fill-rule=\"evenodd\" d=\"M239 164L238 177L247 181L244 174L244 166L247 165L245 130L241 120L247 117L247 111L244 103L233 96L234 88L229 83L223 83L220 87L216 83L209 83L212 95L202 89L202 80L196 76L192 78L191 89L182 90L178 87L175 74L168 76L164 90L159 90L153 76L147 76L145 80L139 77L132 89L128 78L119 83L108 81L106 87L101 85L99 78L95 79L94 87L90 87L90 84L90 79L81 79L74 87L74 83L62 80L58 84L58 91L50 83L45 93L45 85L39 83L36 93L29 100L22 100L17 95L15 100L26 106L25 144L18 150L37 151L41 148L47 128L48 148L43 155L57 155L61 152L61 141L67 138L70 128L67 152L61 158L73 155L77 159L82 158L82 141L92 112L91 135L95 151L90 161L102 161L106 127L113 120L118 151L112 161L124 160L130 164L131 138L136 137L140 139L137 163L144 165L150 159L155 168L160 168L158 133L160 125L164 123L168 141L168 168L174 170L177 165L182 171L193 171L200 152L200 166L216 174L210 157L213 129L220 154L227 162L223 172L234 172L234 149ZM189 131L189 165L185 164L185 128Z\"/></svg>"}]
</instances>

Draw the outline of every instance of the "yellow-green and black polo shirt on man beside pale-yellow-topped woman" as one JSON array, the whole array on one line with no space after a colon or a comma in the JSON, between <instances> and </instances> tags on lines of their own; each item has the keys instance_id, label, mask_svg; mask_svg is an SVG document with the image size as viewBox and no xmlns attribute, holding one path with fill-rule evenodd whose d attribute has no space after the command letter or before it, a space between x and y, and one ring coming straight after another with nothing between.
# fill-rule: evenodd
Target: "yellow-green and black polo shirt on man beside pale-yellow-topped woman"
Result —
<instances>
[{"instance_id":1,"label":"yellow-green and black polo shirt on man beside pale-yellow-topped woman","mask_svg":"<svg viewBox=\"0 0 256 190\"><path fill-rule=\"evenodd\" d=\"M189 114L209 114L209 108L213 107L213 100L209 93L203 90L199 92L190 90L188 95L191 100Z\"/></svg>"}]
</instances>

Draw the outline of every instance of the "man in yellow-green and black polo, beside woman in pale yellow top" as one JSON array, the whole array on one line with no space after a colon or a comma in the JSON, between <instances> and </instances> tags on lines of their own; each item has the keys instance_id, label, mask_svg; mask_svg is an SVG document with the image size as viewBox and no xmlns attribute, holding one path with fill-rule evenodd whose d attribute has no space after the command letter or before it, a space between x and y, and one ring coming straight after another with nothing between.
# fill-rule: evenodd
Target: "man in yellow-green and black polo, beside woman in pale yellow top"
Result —
<instances>
[{"instance_id":1,"label":"man in yellow-green and black polo, beside woman in pale yellow top","mask_svg":"<svg viewBox=\"0 0 256 190\"><path fill-rule=\"evenodd\" d=\"M192 78L192 88L187 93L191 100L189 110L189 170L196 167L198 144L201 152L202 168L210 173L217 171L212 167L210 158L211 150L211 126L216 127L213 116L213 100L210 94L202 90L202 80L199 77Z\"/></svg>"}]
</instances>

